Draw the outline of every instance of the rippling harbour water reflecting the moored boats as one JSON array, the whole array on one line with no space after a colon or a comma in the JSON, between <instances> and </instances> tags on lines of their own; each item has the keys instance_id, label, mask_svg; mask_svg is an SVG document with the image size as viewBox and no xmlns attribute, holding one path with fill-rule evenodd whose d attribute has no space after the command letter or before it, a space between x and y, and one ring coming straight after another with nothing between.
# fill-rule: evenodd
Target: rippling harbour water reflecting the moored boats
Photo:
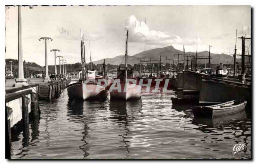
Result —
<instances>
[{"instance_id":1,"label":"rippling harbour water reflecting the moored boats","mask_svg":"<svg viewBox=\"0 0 256 164\"><path fill-rule=\"evenodd\" d=\"M142 90L145 90L144 88ZM12 158L249 158L250 109L217 119L194 119L191 106L172 105L170 93L140 100L40 100L29 135L12 137ZM27 133L26 133L27 134ZM244 143L232 155L232 145Z\"/></svg>"}]
</instances>

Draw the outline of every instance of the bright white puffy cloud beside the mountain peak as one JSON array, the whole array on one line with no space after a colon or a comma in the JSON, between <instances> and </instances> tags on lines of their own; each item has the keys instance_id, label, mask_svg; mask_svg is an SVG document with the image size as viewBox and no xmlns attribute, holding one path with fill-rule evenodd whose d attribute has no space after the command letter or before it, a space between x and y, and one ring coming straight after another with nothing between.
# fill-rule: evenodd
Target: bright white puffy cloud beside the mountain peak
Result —
<instances>
[{"instance_id":1,"label":"bright white puffy cloud beside the mountain peak","mask_svg":"<svg viewBox=\"0 0 256 164\"><path fill-rule=\"evenodd\" d=\"M200 38L181 39L178 35L169 35L166 32L152 30L145 21L137 20L134 15L125 21L125 30L129 30L129 42L145 43L154 47L171 44L194 45L202 42Z\"/></svg>"}]
</instances>

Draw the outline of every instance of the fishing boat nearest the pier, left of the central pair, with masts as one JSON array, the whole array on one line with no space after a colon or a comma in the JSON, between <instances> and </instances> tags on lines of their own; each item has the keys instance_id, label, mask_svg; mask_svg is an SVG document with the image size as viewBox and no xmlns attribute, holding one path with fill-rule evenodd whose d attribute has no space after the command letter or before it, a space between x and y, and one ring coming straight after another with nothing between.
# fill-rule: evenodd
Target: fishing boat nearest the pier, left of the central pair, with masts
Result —
<instances>
[{"instance_id":1,"label":"fishing boat nearest the pier, left of the central pair, with masts","mask_svg":"<svg viewBox=\"0 0 256 164\"><path fill-rule=\"evenodd\" d=\"M84 38L81 35L81 61L82 61L82 76L78 82L67 85L68 97L70 99L106 99L106 85L98 85L95 78L95 71L86 71ZM92 65L91 65L92 66ZM91 68L92 69L92 68Z\"/></svg>"}]
</instances>

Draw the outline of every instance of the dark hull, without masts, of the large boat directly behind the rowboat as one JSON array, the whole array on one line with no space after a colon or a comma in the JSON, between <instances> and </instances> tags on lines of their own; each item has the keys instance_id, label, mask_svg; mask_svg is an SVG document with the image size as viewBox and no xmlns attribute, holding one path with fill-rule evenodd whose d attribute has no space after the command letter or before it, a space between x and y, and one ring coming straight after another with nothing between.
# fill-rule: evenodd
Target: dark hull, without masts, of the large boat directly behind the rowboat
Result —
<instances>
[{"instance_id":1,"label":"dark hull, without masts, of the large boat directly behind the rowboat","mask_svg":"<svg viewBox=\"0 0 256 164\"><path fill-rule=\"evenodd\" d=\"M219 104L235 99L251 101L251 84L217 78L202 78L199 103Z\"/></svg>"}]
</instances>

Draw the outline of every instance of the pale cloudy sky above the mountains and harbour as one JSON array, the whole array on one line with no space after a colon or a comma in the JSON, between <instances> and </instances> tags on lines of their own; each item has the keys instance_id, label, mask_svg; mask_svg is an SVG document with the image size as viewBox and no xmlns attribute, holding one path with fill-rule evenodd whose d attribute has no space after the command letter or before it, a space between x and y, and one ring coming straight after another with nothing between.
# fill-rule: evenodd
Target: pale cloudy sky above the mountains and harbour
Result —
<instances>
[{"instance_id":1,"label":"pale cloudy sky above the mountains and harbour","mask_svg":"<svg viewBox=\"0 0 256 164\"><path fill-rule=\"evenodd\" d=\"M34 6L21 7L23 60L54 65L54 52L69 64L81 62L80 29L86 61L128 55L172 45L185 52L232 53L237 37L251 36L250 6ZM18 7L5 10L5 58L18 59ZM89 44L90 41L90 44ZM246 41L247 46L250 41ZM89 46L90 45L90 46ZM241 54L241 39L237 39ZM250 51L250 50L249 50ZM57 60L57 64L59 61Z\"/></svg>"}]
</instances>

